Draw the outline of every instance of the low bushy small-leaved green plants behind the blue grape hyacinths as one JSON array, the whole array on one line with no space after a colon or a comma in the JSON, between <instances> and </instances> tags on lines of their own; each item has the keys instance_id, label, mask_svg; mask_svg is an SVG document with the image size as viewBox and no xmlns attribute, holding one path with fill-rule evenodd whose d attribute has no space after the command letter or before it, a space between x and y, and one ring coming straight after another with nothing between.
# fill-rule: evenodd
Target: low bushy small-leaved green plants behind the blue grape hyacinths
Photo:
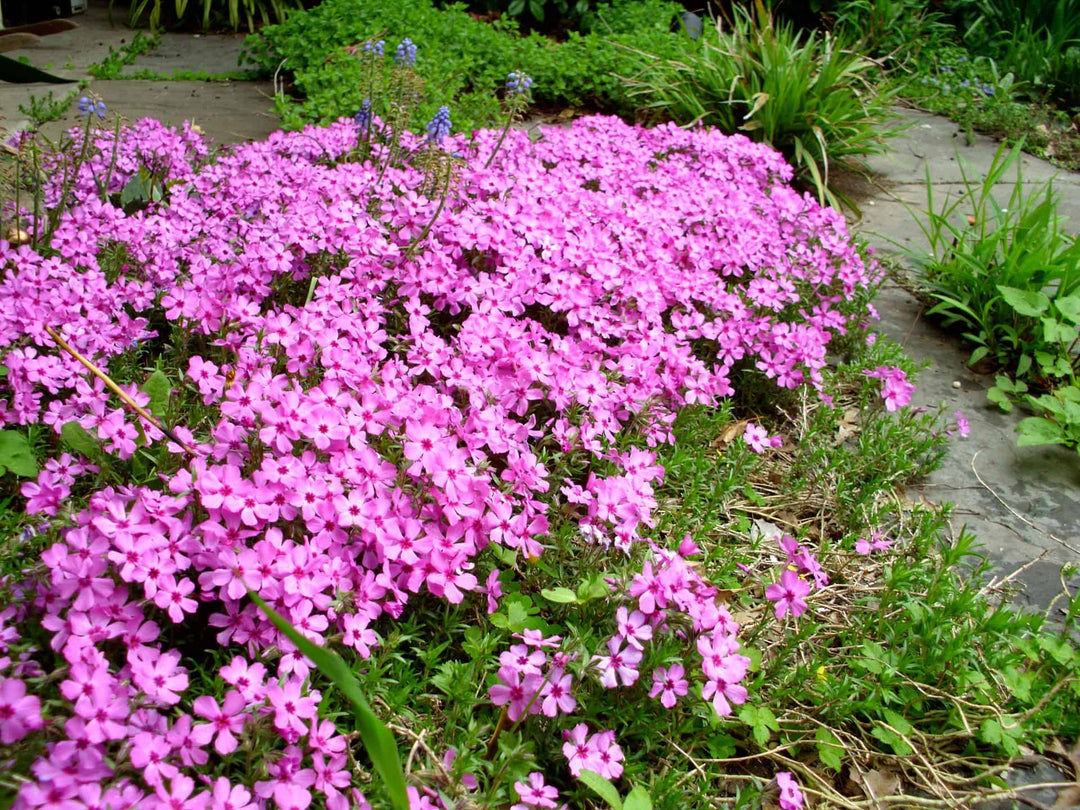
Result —
<instances>
[{"instance_id":1,"label":"low bushy small-leaved green plants behind the blue grape hyacinths","mask_svg":"<svg viewBox=\"0 0 1080 810\"><path fill-rule=\"evenodd\" d=\"M556 42L538 33L521 36L512 19L477 21L461 5L438 10L430 0L393 5L326 0L284 25L262 29L248 40L247 55L267 76L280 70L291 77L293 93L281 94L278 105L287 129L354 114L369 91L359 49L386 40L390 53L406 38L419 49L423 100L418 120L448 105L458 132L497 125L497 91L514 70L534 77L534 99L542 107L633 117L634 105L618 79L636 64L627 49L678 52L686 37L669 30L676 9L662 0L602 4L593 31L570 31Z\"/></svg>"}]
</instances>

